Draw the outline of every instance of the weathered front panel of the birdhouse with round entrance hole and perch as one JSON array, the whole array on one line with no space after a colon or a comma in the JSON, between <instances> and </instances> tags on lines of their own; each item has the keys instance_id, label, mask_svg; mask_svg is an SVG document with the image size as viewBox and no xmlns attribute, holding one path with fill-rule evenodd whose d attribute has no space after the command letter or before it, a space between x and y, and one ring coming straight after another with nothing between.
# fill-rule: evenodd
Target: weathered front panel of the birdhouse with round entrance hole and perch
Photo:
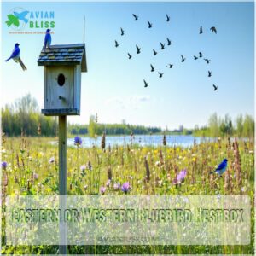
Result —
<instances>
[{"instance_id":1,"label":"weathered front panel of the birdhouse with round entrance hole and perch","mask_svg":"<svg viewBox=\"0 0 256 256\"><path fill-rule=\"evenodd\" d=\"M44 108L74 107L74 67L45 67Z\"/></svg>"}]
</instances>

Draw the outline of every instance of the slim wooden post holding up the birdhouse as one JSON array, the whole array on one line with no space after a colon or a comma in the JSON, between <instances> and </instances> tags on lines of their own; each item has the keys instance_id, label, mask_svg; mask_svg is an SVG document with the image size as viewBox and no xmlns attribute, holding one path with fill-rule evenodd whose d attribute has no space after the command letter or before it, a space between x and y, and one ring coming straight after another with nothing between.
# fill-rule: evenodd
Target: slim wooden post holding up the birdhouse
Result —
<instances>
[{"instance_id":1,"label":"slim wooden post holding up the birdhouse","mask_svg":"<svg viewBox=\"0 0 256 256\"><path fill-rule=\"evenodd\" d=\"M60 208L64 213L67 195L67 116L59 116L59 189ZM64 196L63 196L64 195ZM60 248L59 254L67 254L67 226L63 220L60 222Z\"/></svg>"}]
</instances>

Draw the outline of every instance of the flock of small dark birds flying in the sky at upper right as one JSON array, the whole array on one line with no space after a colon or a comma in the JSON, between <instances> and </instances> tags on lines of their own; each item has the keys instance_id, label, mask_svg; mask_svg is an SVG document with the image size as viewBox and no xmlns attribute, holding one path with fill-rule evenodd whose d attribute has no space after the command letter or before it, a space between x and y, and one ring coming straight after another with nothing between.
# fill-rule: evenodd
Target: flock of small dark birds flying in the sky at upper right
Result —
<instances>
[{"instance_id":1,"label":"flock of small dark birds flying in the sky at upper right","mask_svg":"<svg viewBox=\"0 0 256 256\"><path fill-rule=\"evenodd\" d=\"M134 20L135 21L137 21L138 20L138 18L139 18L139 16L138 15L135 15L135 14L132 14L132 16L134 17ZM170 22L170 16L169 15L166 15L166 22ZM153 27L153 23L152 22L150 22L149 20L148 20L148 28L150 29L150 28L152 28ZM217 34L217 29L216 29L216 27L215 26L212 26L211 28L210 28L210 31L212 32L212 33L215 33L215 34ZM121 36L124 36L125 35L125 30L122 28L122 27L120 27L120 35ZM200 27L200 31L199 31L199 34L202 34L203 33L203 28L202 28L202 26ZM169 38L166 38L166 44L167 44L167 46L170 46L171 44L172 44L172 41L169 39ZM114 46L116 47L116 48L118 48L119 47L119 42L117 41L117 40L114 40ZM137 49L137 52L136 52L136 54L137 55L139 55L141 52L142 52L142 49L136 44L135 45L136 46L136 49ZM163 44L162 42L160 42L160 49L161 50L163 50L163 49L165 49L166 48L166 45L165 44ZM155 49L153 49L153 55L155 56L155 55L157 55L158 54L158 52L155 50ZM132 58L132 55L131 55L131 53L127 53L127 55L128 55L128 59L129 60L131 60L131 58ZM203 58L203 55L202 55L202 53L201 52L199 52L199 55L197 56L197 55L194 55L194 60L196 61L196 60L198 60L198 59L201 59L201 58ZM183 56L183 55L181 55L181 62L184 62L186 60L186 58ZM203 58L203 60L204 61L206 61L206 63L207 64L209 64L210 63L210 59L207 59L207 58ZM168 67L168 68L172 68L173 67L173 64L167 64L167 66L166 67ZM154 72L155 71L155 68L154 68L154 66L152 65L152 64L150 64L150 68L151 68L151 70L150 70L150 72ZM162 78L163 77L163 75L164 75L164 73L160 73L160 72L158 72L158 75L159 75L159 78ZM208 78L210 78L210 77L212 77L212 71L208 71ZM145 80L145 79L143 79L143 82L144 82L144 87L148 87L148 82ZM212 86L213 86L213 90L215 91L215 90L218 90L218 86L216 86L215 84L212 84Z\"/></svg>"}]
</instances>

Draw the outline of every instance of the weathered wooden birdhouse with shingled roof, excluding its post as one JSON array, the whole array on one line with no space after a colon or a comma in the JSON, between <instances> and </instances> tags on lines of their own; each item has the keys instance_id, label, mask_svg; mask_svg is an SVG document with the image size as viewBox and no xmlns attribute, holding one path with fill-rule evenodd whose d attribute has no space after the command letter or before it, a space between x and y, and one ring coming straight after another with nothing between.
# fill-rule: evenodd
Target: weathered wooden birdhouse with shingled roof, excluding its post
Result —
<instances>
[{"instance_id":1,"label":"weathered wooden birdhouse with shingled roof, excluding its post","mask_svg":"<svg viewBox=\"0 0 256 256\"><path fill-rule=\"evenodd\" d=\"M42 49L38 66L44 66L44 115L79 115L81 73L87 72L85 45L51 45Z\"/></svg>"}]
</instances>

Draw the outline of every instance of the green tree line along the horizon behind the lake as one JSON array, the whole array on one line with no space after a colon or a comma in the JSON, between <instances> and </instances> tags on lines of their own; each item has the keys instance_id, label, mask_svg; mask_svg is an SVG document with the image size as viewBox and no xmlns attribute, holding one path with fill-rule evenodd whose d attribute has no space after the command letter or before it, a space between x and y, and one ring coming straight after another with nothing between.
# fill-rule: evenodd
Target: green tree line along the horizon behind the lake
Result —
<instances>
[{"instance_id":1,"label":"green tree line along the horizon behind the lake","mask_svg":"<svg viewBox=\"0 0 256 256\"><path fill-rule=\"evenodd\" d=\"M2 108L2 131L7 136L55 137L58 133L58 123L56 117L46 117L40 113L38 102L30 94L21 97L13 104L6 104ZM129 134L192 134L204 137L254 137L253 116L245 114L238 115L236 119L231 119L229 114L219 117L213 113L208 119L206 126L195 125L194 129L186 129L183 125L177 130L162 130L160 127L146 127L143 125L122 124L99 124L96 116L90 116L89 125L67 125L69 135L129 135Z\"/></svg>"}]
</instances>

